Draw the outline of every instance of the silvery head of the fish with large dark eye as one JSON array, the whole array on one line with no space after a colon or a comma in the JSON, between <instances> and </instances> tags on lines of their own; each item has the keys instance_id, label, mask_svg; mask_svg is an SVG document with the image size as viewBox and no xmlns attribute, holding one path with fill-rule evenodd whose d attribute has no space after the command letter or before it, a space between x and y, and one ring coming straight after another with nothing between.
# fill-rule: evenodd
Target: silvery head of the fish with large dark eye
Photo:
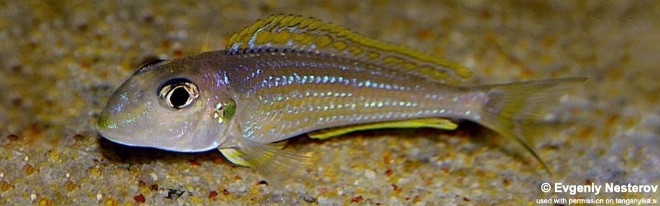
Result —
<instances>
[{"instance_id":1,"label":"silvery head of the fish with large dark eye","mask_svg":"<svg viewBox=\"0 0 660 206\"><path fill-rule=\"evenodd\" d=\"M198 67L198 68L195 68ZM235 104L203 62L175 59L137 69L108 100L97 128L119 144L177 152L217 148ZM219 91L220 90L220 91Z\"/></svg>"}]
</instances>

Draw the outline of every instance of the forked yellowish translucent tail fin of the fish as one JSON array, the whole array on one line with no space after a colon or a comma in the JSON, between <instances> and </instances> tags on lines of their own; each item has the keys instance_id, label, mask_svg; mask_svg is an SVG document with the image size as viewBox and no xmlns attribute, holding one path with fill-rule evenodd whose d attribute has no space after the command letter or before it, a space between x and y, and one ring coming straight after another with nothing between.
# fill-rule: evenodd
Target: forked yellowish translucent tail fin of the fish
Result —
<instances>
[{"instance_id":1,"label":"forked yellowish translucent tail fin of the fish","mask_svg":"<svg viewBox=\"0 0 660 206\"><path fill-rule=\"evenodd\" d=\"M548 173L550 169L525 141L525 135L540 117L543 108L553 104L566 90L575 88L586 78L560 78L483 86L488 102L479 122L507 138L518 141L539 161Z\"/></svg>"}]
</instances>

